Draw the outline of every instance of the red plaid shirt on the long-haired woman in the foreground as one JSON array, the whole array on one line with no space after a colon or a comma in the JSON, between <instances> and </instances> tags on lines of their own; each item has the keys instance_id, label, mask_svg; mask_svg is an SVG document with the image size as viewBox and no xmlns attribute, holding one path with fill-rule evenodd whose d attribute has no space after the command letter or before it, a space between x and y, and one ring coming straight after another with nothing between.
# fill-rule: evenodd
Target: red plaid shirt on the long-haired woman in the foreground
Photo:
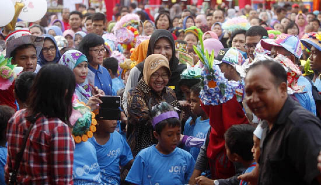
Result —
<instances>
[{"instance_id":1,"label":"red plaid shirt on the long-haired woman in the foreground","mask_svg":"<svg viewBox=\"0 0 321 185\"><path fill-rule=\"evenodd\" d=\"M8 156L5 180L9 167L22 147L30 122L25 109L17 111L8 122ZM58 118L40 117L30 131L18 171L18 184L73 184L74 140L69 127Z\"/></svg>"}]
</instances>

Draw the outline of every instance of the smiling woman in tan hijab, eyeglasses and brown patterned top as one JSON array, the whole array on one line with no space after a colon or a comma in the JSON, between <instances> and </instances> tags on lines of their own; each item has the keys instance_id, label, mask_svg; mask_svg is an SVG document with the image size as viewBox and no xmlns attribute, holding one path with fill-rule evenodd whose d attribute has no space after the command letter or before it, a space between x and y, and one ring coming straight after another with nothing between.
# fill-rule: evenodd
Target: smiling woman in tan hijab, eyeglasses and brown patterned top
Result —
<instances>
[{"instance_id":1,"label":"smiling woman in tan hijab, eyeglasses and brown patterned top","mask_svg":"<svg viewBox=\"0 0 321 185\"><path fill-rule=\"evenodd\" d=\"M175 92L166 86L171 75L167 57L161 54L149 55L144 62L143 77L128 92L126 134L133 156L157 143L153 136L150 108L162 101L179 107Z\"/></svg>"}]
</instances>

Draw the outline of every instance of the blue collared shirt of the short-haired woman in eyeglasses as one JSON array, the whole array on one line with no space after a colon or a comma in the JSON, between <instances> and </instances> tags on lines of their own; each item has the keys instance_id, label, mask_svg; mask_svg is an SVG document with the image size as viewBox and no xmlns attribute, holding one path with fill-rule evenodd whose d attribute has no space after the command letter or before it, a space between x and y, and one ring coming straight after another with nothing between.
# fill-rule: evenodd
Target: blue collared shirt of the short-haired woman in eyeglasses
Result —
<instances>
[{"instance_id":1,"label":"blue collared shirt of the short-haired woman in eyeglasses","mask_svg":"<svg viewBox=\"0 0 321 185\"><path fill-rule=\"evenodd\" d=\"M112 82L108 70L104 66L98 65L98 69L94 69L88 65L88 69L95 74L95 86L103 90L105 95L112 95ZM89 71L88 71L89 72Z\"/></svg>"}]
</instances>

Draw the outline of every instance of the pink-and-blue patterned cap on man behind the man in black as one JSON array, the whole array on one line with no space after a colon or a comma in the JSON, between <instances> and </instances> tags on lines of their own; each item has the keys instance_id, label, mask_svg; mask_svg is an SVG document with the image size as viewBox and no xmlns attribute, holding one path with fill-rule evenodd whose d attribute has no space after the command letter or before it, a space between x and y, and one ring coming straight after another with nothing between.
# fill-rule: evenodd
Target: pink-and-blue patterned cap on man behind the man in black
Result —
<instances>
[{"instance_id":1,"label":"pink-and-blue patterned cap on man behind the man in black","mask_svg":"<svg viewBox=\"0 0 321 185\"><path fill-rule=\"evenodd\" d=\"M298 37L282 33L275 40L261 40L261 46L271 51L272 46L283 47L295 57L302 56L302 48Z\"/></svg>"}]
</instances>

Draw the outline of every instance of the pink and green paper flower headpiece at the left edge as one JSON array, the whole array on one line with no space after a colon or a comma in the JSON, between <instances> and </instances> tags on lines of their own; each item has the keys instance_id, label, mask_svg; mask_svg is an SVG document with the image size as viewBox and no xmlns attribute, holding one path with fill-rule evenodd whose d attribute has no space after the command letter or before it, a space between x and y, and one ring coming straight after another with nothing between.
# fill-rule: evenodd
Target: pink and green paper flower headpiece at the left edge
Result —
<instances>
[{"instance_id":1,"label":"pink and green paper flower headpiece at the left edge","mask_svg":"<svg viewBox=\"0 0 321 185\"><path fill-rule=\"evenodd\" d=\"M23 70L23 67L12 65L11 59L4 58L3 54L0 56L0 90L7 90Z\"/></svg>"}]
</instances>

